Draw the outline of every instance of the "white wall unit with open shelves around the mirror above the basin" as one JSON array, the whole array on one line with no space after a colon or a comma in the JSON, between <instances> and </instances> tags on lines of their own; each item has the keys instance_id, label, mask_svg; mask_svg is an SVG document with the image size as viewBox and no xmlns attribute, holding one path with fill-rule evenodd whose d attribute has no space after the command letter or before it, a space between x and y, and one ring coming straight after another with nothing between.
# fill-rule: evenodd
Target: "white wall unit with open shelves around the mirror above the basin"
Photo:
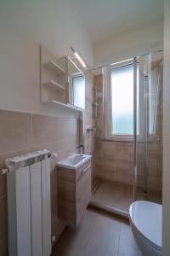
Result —
<instances>
[{"instance_id":1,"label":"white wall unit with open shelves around the mirror above the basin","mask_svg":"<svg viewBox=\"0 0 170 256\"><path fill-rule=\"evenodd\" d=\"M82 73L69 56L56 57L41 45L40 50L40 86L41 102L55 108L82 112L84 109L72 105L71 79Z\"/></svg>"}]
</instances>

